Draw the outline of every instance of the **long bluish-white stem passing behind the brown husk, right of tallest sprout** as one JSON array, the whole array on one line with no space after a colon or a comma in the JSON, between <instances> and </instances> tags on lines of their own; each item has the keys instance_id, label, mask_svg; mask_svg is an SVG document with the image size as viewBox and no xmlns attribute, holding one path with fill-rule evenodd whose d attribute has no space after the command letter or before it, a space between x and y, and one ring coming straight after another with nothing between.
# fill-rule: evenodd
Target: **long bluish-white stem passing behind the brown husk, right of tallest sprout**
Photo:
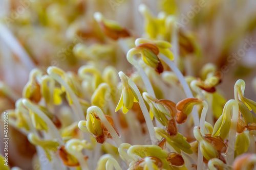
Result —
<instances>
[{"instance_id":1,"label":"long bluish-white stem passing behind the brown husk, right of tallest sprout","mask_svg":"<svg viewBox=\"0 0 256 170\"><path fill-rule=\"evenodd\" d=\"M182 73L180 72L180 70L177 68L177 66L170 60L168 59L166 56L160 54L159 55L160 59L163 60L176 74L176 76L178 77L184 92L187 96L187 98L194 98L184 76L182 75ZM193 120L194 120L194 124L195 126L199 126L199 116L198 116L198 112L194 106L193 110L192 110L192 115L193 115Z\"/></svg>"}]
</instances>

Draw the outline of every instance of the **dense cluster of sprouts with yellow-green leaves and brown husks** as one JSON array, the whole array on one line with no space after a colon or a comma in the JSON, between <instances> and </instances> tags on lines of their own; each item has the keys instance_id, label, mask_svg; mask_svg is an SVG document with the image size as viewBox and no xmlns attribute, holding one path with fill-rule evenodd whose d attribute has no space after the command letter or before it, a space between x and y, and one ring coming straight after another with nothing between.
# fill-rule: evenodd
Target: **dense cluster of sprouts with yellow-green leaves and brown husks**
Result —
<instances>
[{"instance_id":1,"label":"dense cluster of sprouts with yellow-green leaves and brown husks","mask_svg":"<svg viewBox=\"0 0 256 170\"><path fill-rule=\"evenodd\" d=\"M55 4L47 11L56 14L49 22L58 29L68 24L60 7ZM187 56L200 56L197 39L174 26L174 14L161 12L155 17L144 4L139 12L145 20L143 38L135 38L100 12L91 13L90 20L106 40L72 44L73 58L86 61L77 69L35 67L17 43L21 53L16 55L33 69L22 93L1 81L0 96L15 105L5 110L9 126L35 147L31 166L42 170L256 168L256 102L244 95L245 81L237 80L230 87L233 99L226 100L225 92L218 89L225 77L216 64L197 68L199 76L186 75L178 64L187 62ZM69 38L79 32L79 20L69 27ZM256 79L252 86L256 89ZM0 160L5 160L3 155ZM1 163L0 169L22 167Z\"/></svg>"}]
</instances>

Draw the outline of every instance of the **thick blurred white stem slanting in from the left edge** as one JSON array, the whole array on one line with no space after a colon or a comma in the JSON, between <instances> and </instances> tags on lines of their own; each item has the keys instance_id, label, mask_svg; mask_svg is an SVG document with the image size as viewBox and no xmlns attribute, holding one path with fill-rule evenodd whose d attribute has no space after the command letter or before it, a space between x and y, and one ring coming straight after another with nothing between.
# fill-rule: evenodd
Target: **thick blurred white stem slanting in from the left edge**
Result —
<instances>
[{"instance_id":1,"label":"thick blurred white stem slanting in from the left edge","mask_svg":"<svg viewBox=\"0 0 256 170\"><path fill-rule=\"evenodd\" d=\"M29 71L35 68L35 64L30 59L23 46L14 37L12 32L2 23L0 23L0 37L6 42L12 52L19 58L20 62L28 68Z\"/></svg>"}]
</instances>

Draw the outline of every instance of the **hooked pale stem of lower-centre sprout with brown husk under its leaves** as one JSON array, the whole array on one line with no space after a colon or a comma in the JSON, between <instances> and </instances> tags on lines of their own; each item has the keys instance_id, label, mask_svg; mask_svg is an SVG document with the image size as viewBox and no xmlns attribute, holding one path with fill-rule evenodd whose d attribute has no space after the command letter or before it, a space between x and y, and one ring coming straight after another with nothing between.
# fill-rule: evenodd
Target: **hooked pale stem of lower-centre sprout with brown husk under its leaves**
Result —
<instances>
[{"instance_id":1,"label":"hooked pale stem of lower-centre sprout with brown husk under its leaves","mask_svg":"<svg viewBox=\"0 0 256 170\"><path fill-rule=\"evenodd\" d=\"M108 131L110 132L110 135L112 136L113 140L115 141L117 147L119 147L120 144L122 144L122 141L119 138L118 134L116 133L115 129L109 123L108 119L106 119L106 117L105 117L104 113L102 112L102 110L99 107L97 107L97 106L91 106L91 107L89 107L87 109L87 114L90 114L92 112L96 112L97 113L97 115L99 116L101 122L104 124L106 129L108 129Z\"/></svg>"}]
</instances>

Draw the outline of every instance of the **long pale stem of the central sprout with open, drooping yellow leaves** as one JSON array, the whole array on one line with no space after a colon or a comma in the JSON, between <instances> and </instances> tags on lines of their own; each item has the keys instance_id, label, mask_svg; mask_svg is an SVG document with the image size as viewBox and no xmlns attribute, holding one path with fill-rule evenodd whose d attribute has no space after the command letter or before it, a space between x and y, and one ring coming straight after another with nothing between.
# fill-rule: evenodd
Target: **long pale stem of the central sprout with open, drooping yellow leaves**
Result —
<instances>
[{"instance_id":1,"label":"long pale stem of the central sprout with open, drooping yellow leaves","mask_svg":"<svg viewBox=\"0 0 256 170\"><path fill-rule=\"evenodd\" d=\"M139 105L140 105L141 111L143 113L143 116L145 118L146 126L147 126L147 129L148 129L148 132L150 133L152 144L156 144L157 143L157 136L156 136L156 132L155 132L155 129L154 129L154 125L151 121L150 114L147 111L147 108L146 108L144 100L141 96L141 93L140 93L138 87L136 86L136 84L131 79L127 79L127 80L129 82L129 85L133 88L133 90L135 91L135 93L137 94L137 96L139 98Z\"/></svg>"}]
</instances>

